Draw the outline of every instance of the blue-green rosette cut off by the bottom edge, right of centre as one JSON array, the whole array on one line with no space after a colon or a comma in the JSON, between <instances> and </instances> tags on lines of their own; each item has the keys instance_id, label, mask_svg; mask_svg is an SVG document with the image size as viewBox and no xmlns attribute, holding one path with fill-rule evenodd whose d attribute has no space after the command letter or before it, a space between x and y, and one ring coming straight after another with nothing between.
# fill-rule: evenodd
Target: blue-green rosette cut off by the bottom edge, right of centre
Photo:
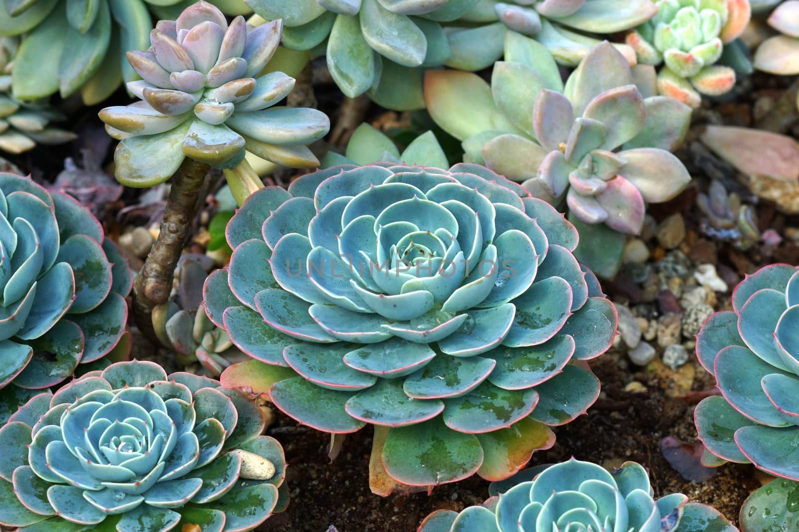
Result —
<instances>
[{"instance_id":1,"label":"blue-green rosette cut off by the bottom edge, right of centre","mask_svg":"<svg viewBox=\"0 0 799 532\"><path fill-rule=\"evenodd\" d=\"M737 532L718 510L682 493L655 500L635 462L610 473L570 459L519 471L489 491L483 506L435 511L418 532Z\"/></svg>"}]
</instances>

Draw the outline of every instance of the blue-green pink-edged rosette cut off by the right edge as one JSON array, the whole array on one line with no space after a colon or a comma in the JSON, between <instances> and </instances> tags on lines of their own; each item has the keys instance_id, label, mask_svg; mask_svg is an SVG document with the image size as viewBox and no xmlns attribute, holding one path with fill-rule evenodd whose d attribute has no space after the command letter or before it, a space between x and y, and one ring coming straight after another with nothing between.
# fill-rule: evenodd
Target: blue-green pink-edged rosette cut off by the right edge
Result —
<instances>
[{"instance_id":1,"label":"blue-green pink-edged rosette cut off by the right edge","mask_svg":"<svg viewBox=\"0 0 799 532\"><path fill-rule=\"evenodd\" d=\"M697 356L721 396L695 412L708 465L754 463L799 480L799 270L765 266L733 292L733 310L709 317Z\"/></svg>"}]
</instances>

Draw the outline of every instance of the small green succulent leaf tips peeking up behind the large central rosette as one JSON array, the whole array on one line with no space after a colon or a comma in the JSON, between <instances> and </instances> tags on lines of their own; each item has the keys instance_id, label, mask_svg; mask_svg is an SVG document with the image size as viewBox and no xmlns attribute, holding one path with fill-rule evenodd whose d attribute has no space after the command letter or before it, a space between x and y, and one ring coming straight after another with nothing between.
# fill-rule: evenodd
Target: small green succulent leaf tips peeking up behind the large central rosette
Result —
<instances>
[{"instance_id":1,"label":"small green succulent leaf tips peeking up behind the large central rosette","mask_svg":"<svg viewBox=\"0 0 799 532\"><path fill-rule=\"evenodd\" d=\"M340 155L328 152L322 159L321 168L339 164L366 165L378 162L403 163L419 166L446 167L447 155L431 131L417 136L400 153L393 140L370 124L360 124L350 138L346 152Z\"/></svg>"}]
</instances>

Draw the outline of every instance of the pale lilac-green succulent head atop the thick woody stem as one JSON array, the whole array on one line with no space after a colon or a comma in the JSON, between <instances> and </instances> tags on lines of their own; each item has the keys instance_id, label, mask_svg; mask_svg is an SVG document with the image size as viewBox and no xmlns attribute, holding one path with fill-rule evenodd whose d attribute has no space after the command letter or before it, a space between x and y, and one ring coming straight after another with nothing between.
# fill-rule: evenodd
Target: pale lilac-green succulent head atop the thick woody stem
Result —
<instances>
[{"instance_id":1,"label":"pale lilac-green succulent head atop the thick woody stem","mask_svg":"<svg viewBox=\"0 0 799 532\"><path fill-rule=\"evenodd\" d=\"M316 167L306 144L324 136L330 121L308 108L269 108L294 80L264 69L280 41L282 23L248 27L208 2L187 7L177 21L161 21L146 52L128 60L143 81L128 89L141 101L104 108L100 118L120 139L117 179L149 187L169 179L185 157L213 167L236 167L244 149L277 164Z\"/></svg>"}]
</instances>

